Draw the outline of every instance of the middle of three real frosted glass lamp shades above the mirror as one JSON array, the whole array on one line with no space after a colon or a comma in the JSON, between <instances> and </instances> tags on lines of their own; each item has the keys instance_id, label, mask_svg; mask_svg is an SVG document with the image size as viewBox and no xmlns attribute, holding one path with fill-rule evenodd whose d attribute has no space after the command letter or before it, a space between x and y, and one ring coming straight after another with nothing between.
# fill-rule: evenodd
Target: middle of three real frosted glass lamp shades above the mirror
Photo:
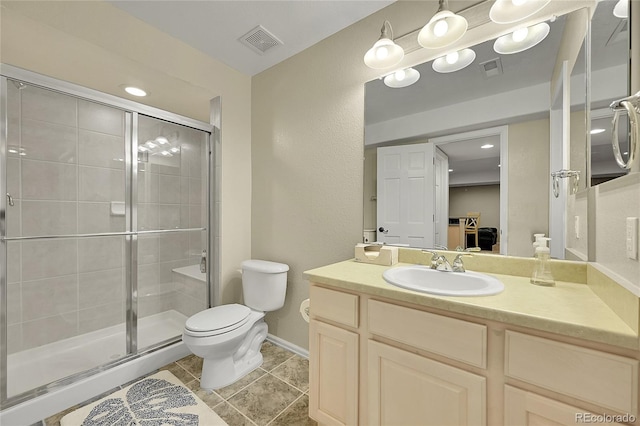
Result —
<instances>
[{"instance_id":1,"label":"middle of three real frosted glass lamp shades above the mirror","mask_svg":"<svg viewBox=\"0 0 640 426\"><path fill-rule=\"evenodd\" d=\"M439 49L456 41L467 32L469 23L447 9L448 0L440 0L438 12L418 33L418 43L427 49Z\"/></svg>"}]
</instances>

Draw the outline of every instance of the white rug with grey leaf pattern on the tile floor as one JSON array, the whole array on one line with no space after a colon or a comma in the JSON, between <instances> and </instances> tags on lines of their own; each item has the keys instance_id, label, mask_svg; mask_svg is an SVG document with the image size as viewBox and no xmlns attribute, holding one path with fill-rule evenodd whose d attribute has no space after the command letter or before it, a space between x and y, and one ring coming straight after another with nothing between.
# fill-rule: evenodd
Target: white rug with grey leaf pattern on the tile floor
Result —
<instances>
[{"instance_id":1,"label":"white rug with grey leaf pattern on the tile floor","mask_svg":"<svg viewBox=\"0 0 640 426\"><path fill-rule=\"evenodd\" d=\"M145 377L67 414L61 426L217 426L216 413L168 371Z\"/></svg>"}]
</instances>

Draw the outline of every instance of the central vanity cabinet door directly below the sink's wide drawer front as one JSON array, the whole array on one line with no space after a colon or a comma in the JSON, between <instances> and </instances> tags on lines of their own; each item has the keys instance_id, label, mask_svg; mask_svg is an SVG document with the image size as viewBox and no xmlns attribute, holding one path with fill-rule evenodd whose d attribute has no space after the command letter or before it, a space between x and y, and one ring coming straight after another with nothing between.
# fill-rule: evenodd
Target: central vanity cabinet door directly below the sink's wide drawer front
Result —
<instances>
[{"instance_id":1,"label":"central vanity cabinet door directly below the sink's wide drawer front","mask_svg":"<svg viewBox=\"0 0 640 426\"><path fill-rule=\"evenodd\" d=\"M368 342L370 425L485 425L484 377Z\"/></svg>"}]
</instances>

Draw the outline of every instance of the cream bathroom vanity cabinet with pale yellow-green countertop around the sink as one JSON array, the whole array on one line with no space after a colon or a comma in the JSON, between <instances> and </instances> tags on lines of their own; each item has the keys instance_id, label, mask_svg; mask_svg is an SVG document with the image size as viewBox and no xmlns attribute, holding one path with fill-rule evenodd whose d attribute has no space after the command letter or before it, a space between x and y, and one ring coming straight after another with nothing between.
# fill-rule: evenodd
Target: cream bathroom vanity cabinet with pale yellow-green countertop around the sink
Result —
<instances>
[{"instance_id":1,"label":"cream bathroom vanity cabinet with pale yellow-green countertop around the sink","mask_svg":"<svg viewBox=\"0 0 640 426\"><path fill-rule=\"evenodd\" d=\"M427 263L419 250L400 256L395 267ZM587 284L607 278L584 263L554 262L556 287L531 285L530 260L470 259L469 269L505 285L486 297L404 290L383 280L388 267L353 260L307 271L310 416L327 425L640 424L637 297L619 315Z\"/></svg>"}]
</instances>

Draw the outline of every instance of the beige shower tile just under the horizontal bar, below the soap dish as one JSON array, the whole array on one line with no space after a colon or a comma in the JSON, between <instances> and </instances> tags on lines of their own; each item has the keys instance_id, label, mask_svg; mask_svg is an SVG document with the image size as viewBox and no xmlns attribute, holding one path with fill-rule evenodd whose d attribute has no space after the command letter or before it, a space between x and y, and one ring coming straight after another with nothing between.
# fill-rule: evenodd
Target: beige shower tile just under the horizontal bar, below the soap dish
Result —
<instances>
[{"instance_id":1,"label":"beige shower tile just under the horizontal bar, below the soap dish","mask_svg":"<svg viewBox=\"0 0 640 426\"><path fill-rule=\"evenodd\" d=\"M78 240L79 272L103 271L124 266L123 237Z\"/></svg>"}]
</instances>

